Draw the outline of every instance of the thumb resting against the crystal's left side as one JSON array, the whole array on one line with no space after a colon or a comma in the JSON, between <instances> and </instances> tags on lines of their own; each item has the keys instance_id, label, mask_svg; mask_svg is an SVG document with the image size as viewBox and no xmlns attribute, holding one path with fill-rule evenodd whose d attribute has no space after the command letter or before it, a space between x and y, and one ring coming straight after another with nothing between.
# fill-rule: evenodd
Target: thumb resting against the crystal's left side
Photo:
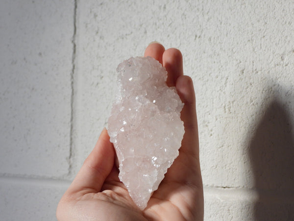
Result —
<instances>
[{"instance_id":1,"label":"thumb resting against the crystal's left side","mask_svg":"<svg viewBox=\"0 0 294 221\"><path fill-rule=\"evenodd\" d=\"M98 193L114 166L115 151L107 130L101 132L98 141L76 175L68 192Z\"/></svg>"}]
</instances>

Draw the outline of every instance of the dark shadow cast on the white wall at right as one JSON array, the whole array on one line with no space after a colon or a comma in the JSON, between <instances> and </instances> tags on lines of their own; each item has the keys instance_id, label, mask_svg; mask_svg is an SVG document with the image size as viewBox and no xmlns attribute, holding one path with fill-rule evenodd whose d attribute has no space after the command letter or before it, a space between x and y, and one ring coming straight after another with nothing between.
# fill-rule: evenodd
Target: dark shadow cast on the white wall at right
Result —
<instances>
[{"instance_id":1,"label":"dark shadow cast on the white wall at right","mask_svg":"<svg viewBox=\"0 0 294 221\"><path fill-rule=\"evenodd\" d=\"M294 110L272 101L250 142L257 221L294 220L294 125L288 111Z\"/></svg>"}]
</instances>

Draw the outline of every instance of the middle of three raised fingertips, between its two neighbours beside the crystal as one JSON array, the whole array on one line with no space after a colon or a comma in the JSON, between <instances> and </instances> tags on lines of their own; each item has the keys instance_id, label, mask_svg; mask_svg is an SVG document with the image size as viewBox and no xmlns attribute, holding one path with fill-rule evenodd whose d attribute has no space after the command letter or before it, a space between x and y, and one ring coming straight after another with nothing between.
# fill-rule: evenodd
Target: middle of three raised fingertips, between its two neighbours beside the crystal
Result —
<instances>
[{"instance_id":1,"label":"middle of three raised fingertips, between its two neighbours beside the crystal","mask_svg":"<svg viewBox=\"0 0 294 221\"><path fill-rule=\"evenodd\" d=\"M168 72L168 86L175 86L177 78L183 75L183 56L182 53L170 48L163 53L163 66Z\"/></svg>"}]
</instances>

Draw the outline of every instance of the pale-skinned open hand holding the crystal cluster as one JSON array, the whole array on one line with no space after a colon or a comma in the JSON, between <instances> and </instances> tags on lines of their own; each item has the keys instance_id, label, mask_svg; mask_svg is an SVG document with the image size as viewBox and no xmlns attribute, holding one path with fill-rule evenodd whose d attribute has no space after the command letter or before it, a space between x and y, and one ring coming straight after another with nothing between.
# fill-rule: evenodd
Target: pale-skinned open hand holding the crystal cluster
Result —
<instances>
[{"instance_id":1,"label":"pale-skinned open hand holding the crystal cluster","mask_svg":"<svg viewBox=\"0 0 294 221\"><path fill-rule=\"evenodd\" d=\"M144 56L152 56L168 71L167 84L175 86L184 103L181 119L185 134L179 156L168 169L141 211L118 178L115 150L107 130L100 137L56 211L59 221L200 221L203 220L203 185L193 81L183 74L179 50L151 43Z\"/></svg>"}]
</instances>

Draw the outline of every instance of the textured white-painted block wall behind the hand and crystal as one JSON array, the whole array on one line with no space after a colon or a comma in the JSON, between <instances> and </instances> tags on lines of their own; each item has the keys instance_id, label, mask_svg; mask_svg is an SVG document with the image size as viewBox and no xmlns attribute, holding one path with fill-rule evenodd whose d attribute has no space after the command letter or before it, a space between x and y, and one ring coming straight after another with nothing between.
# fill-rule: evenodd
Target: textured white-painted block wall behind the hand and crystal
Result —
<instances>
[{"instance_id":1,"label":"textured white-painted block wall behind the hand and crystal","mask_svg":"<svg viewBox=\"0 0 294 221\"><path fill-rule=\"evenodd\" d=\"M56 220L151 41L193 78L205 220L294 220L293 0L1 0L0 220Z\"/></svg>"}]
</instances>

